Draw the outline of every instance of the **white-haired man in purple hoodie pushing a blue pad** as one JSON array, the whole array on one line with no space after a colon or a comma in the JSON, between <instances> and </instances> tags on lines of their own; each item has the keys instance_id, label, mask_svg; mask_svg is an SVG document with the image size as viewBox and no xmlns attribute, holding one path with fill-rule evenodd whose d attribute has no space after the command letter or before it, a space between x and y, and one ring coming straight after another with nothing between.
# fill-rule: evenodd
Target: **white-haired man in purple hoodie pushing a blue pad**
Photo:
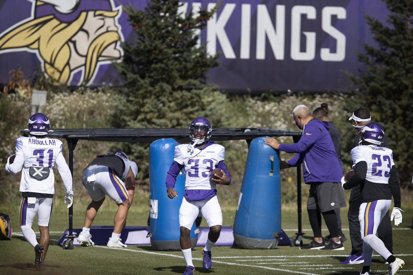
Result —
<instances>
[{"instance_id":1,"label":"white-haired man in purple hoodie pushing a blue pad","mask_svg":"<svg viewBox=\"0 0 413 275\"><path fill-rule=\"evenodd\" d=\"M274 149L297 153L289 161L280 161L280 168L303 164L304 181L310 185L307 211L314 239L300 249L344 250L335 213L337 207L346 206L344 194L339 190L343 173L328 133L330 126L320 118L313 118L305 105L298 105L292 113L295 124L303 130L300 140L294 144L280 144L273 138L264 141ZM327 246L321 235L321 214L330 231L331 241Z\"/></svg>"}]
</instances>

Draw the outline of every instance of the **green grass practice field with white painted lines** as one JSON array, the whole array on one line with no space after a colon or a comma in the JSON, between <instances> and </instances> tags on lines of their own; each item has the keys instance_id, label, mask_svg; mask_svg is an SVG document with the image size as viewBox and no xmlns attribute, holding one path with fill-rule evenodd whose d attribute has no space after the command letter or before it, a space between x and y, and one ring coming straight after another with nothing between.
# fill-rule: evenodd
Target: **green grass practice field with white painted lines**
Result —
<instances>
[{"instance_id":1,"label":"green grass practice field with white painted lines","mask_svg":"<svg viewBox=\"0 0 413 275\"><path fill-rule=\"evenodd\" d=\"M146 226L149 207L147 197L136 197L128 215L127 225ZM86 202L74 206L74 228L83 226ZM304 206L304 205L303 205ZM34 270L34 250L26 242L19 228L19 212L17 206L3 206L2 212L12 218L14 234L12 240L0 242L1 274L31 274ZM113 225L116 205L109 200L104 202L97 214L94 225ZM312 231L308 222L306 209L302 214L304 244L310 242ZM413 274L412 220L413 209L406 208L403 213L403 223L398 227L393 225L393 242L395 256L406 262L398 274ZM235 208L223 209L224 226L233 224ZM212 268L202 268L202 247L192 251L195 274L314 274L314 275L350 275L361 270L362 265L340 265L351 251L349 240L347 209L341 211L343 232L348 238L344 242L343 251L300 250L298 247L278 246L276 249L240 249L238 247L216 246L212 249ZM282 208L282 229L287 235L295 237L298 228L297 209ZM38 231L37 218L33 228ZM206 226L202 221L201 226ZM57 239L68 228L68 214L62 202L55 201L50 221L51 244L45 261L43 274L182 274L185 261L181 251L156 251L151 245L129 245L125 249L111 249L106 246L80 247L64 250L57 245ZM40 236L36 232L37 236ZM328 235L323 224L323 235ZM109 236L108 236L109 237ZM371 271L373 275L389 274L388 265L382 258L374 254Z\"/></svg>"}]
</instances>

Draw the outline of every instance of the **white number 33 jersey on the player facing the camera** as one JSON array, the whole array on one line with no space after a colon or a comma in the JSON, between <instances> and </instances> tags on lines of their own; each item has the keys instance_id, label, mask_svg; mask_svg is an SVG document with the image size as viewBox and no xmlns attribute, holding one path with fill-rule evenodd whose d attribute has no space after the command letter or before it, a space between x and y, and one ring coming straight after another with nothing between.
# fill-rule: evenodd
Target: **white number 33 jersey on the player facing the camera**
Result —
<instances>
[{"instance_id":1,"label":"white number 33 jersey on the player facing the camera","mask_svg":"<svg viewBox=\"0 0 413 275\"><path fill-rule=\"evenodd\" d=\"M211 144L204 149L192 149L189 144L175 147L175 158L184 166L185 190L214 190L215 183L209 180L209 173L225 158L225 148L219 144Z\"/></svg>"}]
</instances>

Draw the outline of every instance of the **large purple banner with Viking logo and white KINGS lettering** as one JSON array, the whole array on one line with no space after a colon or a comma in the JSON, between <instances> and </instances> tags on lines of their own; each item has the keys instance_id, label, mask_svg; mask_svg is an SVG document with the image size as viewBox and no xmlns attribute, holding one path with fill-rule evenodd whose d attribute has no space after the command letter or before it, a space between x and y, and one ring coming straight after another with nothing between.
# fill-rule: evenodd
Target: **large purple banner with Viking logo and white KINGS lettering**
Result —
<instances>
[{"instance_id":1,"label":"large purple banner with Viking logo and white KINGS lettering","mask_svg":"<svg viewBox=\"0 0 413 275\"><path fill-rule=\"evenodd\" d=\"M121 0L142 9L146 1ZM116 85L112 62L135 34L118 1L14 0L0 2L0 83L19 69L42 69L67 85ZM212 8L213 1L181 1L181 11ZM360 42L373 43L364 12L385 21L381 1L225 0L200 33L221 66L209 82L222 90L346 91L343 71L357 73Z\"/></svg>"}]
</instances>

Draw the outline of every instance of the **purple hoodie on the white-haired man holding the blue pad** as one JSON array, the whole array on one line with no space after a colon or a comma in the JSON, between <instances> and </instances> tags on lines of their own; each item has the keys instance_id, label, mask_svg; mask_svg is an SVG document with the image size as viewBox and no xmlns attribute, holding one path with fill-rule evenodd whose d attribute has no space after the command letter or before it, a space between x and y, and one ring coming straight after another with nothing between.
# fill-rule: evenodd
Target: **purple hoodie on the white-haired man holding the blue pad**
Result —
<instances>
[{"instance_id":1,"label":"purple hoodie on the white-haired man holding the blue pad","mask_svg":"<svg viewBox=\"0 0 413 275\"><path fill-rule=\"evenodd\" d=\"M328 122L311 119L297 143L280 144L278 148L287 153L297 153L287 162L290 166L303 164L305 183L341 181L343 173L328 129Z\"/></svg>"}]
</instances>

